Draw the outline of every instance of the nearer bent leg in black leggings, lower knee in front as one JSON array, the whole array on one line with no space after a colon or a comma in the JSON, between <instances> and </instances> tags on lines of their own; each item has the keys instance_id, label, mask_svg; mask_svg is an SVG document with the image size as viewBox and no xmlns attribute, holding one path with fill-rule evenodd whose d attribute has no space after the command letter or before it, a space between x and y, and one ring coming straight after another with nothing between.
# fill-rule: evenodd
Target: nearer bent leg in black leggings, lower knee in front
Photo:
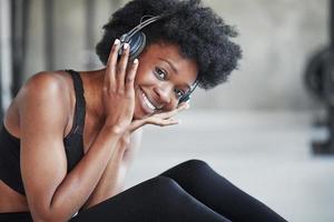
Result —
<instances>
[{"instance_id":1,"label":"nearer bent leg in black leggings, lower knee in front","mask_svg":"<svg viewBox=\"0 0 334 222\"><path fill-rule=\"evenodd\" d=\"M80 212L70 220L75 221L227 222L228 220L189 195L174 180L157 176Z\"/></svg>"}]
</instances>

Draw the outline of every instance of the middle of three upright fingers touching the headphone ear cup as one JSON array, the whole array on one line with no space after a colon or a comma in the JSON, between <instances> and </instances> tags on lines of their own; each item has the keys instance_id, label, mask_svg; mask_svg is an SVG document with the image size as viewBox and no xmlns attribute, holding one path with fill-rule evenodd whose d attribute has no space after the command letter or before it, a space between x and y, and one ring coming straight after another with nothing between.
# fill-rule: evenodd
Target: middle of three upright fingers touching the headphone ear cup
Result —
<instances>
[{"instance_id":1,"label":"middle of three upright fingers touching the headphone ear cup","mask_svg":"<svg viewBox=\"0 0 334 222\"><path fill-rule=\"evenodd\" d=\"M129 60L129 44L125 43L124 48L122 48L122 53L121 53L120 60L117 64L116 79L117 79L117 89L119 91L124 91L128 60Z\"/></svg>"}]
</instances>

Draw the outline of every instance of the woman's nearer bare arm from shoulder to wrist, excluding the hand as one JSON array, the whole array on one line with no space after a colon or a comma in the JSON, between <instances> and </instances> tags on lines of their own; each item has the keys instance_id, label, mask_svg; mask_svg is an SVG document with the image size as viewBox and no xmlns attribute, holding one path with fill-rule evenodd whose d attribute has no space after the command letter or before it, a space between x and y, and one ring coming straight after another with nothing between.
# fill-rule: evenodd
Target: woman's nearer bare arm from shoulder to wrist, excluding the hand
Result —
<instances>
[{"instance_id":1,"label":"woman's nearer bare arm from shoulder to wrist, excluding the hand","mask_svg":"<svg viewBox=\"0 0 334 222\"><path fill-rule=\"evenodd\" d=\"M51 74L37 74L18 94L21 173L35 221L69 220L97 185L120 138L104 128L78 165L67 174L62 143L67 123L63 90ZM55 109L57 107L58 109Z\"/></svg>"}]
</instances>

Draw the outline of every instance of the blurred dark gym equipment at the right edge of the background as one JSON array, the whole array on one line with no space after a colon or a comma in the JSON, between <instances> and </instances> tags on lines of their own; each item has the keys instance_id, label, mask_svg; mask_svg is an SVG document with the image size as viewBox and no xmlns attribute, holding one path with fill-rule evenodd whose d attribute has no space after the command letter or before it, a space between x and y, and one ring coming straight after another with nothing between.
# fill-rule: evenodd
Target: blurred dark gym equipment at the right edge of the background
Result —
<instances>
[{"instance_id":1,"label":"blurred dark gym equipment at the right edge of the background","mask_svg":"<svg viewBox=\"0 0 334 222\"><path fill-rule=\"evenodd\" d=\"M334 154L334 0L330 1L330 40L327 48L316 53L308 62L305 72L307 89L326 108L326 119L322 122L328 129L326 141L314 141L315 154Z\"/></svg>"}]
</instances>

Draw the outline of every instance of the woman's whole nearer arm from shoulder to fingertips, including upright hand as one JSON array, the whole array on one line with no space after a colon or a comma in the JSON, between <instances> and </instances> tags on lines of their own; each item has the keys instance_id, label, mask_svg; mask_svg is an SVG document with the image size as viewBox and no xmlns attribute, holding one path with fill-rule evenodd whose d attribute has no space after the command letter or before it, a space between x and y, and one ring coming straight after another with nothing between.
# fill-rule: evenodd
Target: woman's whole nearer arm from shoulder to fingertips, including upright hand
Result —
<instances>
[{"instance_id":1,"label":"woman's whole nearer arm from shoulder to fingertips, including upright hand","mask_svg":"<svg viewBox=\"0 0 334 222\"><path fill-rule=\"evenodd\" d=\"M104 127L68 174L62 144L68 114L61 83L53 75L37 75L20 92L21 172L35 221L69 220L87 201L109 160L122 152L117 150L121 148L117 143L134 115L138 60L127 70L129 50L125 50L119 62L118 50L119 41L115 41L102 88Z\"/></svg>"}]
</instances>

